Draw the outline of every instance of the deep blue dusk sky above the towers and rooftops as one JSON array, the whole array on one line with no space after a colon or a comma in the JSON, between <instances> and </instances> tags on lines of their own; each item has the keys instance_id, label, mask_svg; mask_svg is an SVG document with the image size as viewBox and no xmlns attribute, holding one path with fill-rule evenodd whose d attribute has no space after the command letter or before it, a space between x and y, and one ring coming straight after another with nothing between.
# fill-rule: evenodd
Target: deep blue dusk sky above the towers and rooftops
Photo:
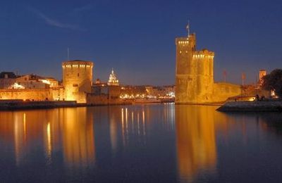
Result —
<instances>
[{"instance_id":1,"label":"deep blue dusk sky above the towers and rooftops","mask_svg":"<svg viewBox=\"0 0 282 183\"><path fill-rule=\"evenodd\" d=\"M61 79L67 58L111 68L123 84L173 84L175 38L190 20L197 49L214 51L215 80L255 82L282 63L282 1L1 1L0 70Z\"/></svg>"}]
</instances>

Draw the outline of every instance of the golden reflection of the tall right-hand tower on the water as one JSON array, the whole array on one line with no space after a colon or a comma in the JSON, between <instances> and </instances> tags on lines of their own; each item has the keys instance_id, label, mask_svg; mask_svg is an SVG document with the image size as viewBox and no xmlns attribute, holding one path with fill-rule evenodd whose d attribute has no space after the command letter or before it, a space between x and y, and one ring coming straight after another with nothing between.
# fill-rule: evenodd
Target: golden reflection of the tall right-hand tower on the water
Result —
<instances>
[{"instance_id":1,"label":"golden reflection of the tall right-hand tower on the water","mask_svg":"<svg viewBox=\"0 0 282 183\"><path fill-rule=\"evenodd\" d=\"M176 106L178 173L192 181L200 172L216 172L216 128L225 115L212 106ZM215 122L216 120L216 122Z\"/></svg>"}]
</instances>

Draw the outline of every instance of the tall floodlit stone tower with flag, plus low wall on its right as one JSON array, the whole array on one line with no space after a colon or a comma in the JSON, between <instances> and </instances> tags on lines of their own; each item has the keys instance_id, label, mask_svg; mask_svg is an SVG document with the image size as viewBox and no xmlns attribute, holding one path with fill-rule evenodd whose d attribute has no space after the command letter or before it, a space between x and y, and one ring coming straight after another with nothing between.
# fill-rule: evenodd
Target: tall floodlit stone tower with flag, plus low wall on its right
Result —
<instances>
[{"instance_id":1,"label":"tall floodlit stone tower with flag, plus low wall on its right","mask_svg":"<svg viewBox=\"0 0 282 183\"><path fill-rule=\"evenodd\" d=\"M176 38L176 103L221 103L240 86L214 83L214 52L196 51L196 36Z\"/></svg>"}]
</instances>

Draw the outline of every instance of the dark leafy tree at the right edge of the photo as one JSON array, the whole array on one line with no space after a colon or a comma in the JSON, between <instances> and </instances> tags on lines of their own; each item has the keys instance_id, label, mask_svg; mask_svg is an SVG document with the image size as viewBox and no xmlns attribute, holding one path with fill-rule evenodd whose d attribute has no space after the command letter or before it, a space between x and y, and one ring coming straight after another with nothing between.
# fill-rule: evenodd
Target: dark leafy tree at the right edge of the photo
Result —
<instances>
[{"instance_id":1,"label":"dark leafy tree at the right edge of the photo","mask_svg":"<svg viewBox=\"0 0 282 183\"><path fill-rule=\"evenodd\" d=\"M266 90L274 89L275 94L282 97L282 69L272 70L269 75L262 77L262 88Z\"/></svg>"}]
</instances>

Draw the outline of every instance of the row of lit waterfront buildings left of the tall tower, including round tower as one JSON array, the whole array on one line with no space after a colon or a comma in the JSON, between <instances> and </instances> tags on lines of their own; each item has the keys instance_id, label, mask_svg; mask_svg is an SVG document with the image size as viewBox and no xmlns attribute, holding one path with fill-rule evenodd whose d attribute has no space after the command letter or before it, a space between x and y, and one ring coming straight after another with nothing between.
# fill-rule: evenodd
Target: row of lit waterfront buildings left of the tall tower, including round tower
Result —
<instances>
[{"instance_id":1,"label":"row of lit waterfront buildings left of the tall tower, including round tower","mask_svg":"<svg viewBox=\"0 0 282 183\"><path fill-rule=\"evenodd\" d=\"M65 61L62 81L39 75L0 73L0 100L77 101L87 104L118 104L135 99L174 99L174 86L120 86L114 69L108 82L92 82L94 63Z\"/></svg>"}]
</instances>

